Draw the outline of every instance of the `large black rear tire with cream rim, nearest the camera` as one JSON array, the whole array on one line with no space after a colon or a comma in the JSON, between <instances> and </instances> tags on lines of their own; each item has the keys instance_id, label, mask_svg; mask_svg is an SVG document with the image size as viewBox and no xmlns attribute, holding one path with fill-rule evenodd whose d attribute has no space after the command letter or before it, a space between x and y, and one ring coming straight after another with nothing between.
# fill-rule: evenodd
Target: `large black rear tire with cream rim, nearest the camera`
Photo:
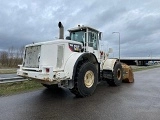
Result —
<instances>
[{"instance_id":1,"label":"large black rear tire with cream rim, nearest the camera","mask_svg":"<svg viewBox=\"0 0 160 120\"><path fill-rule=\"evenodd\" d=\"M98 81L98 72L96 66L86 62L76 71L75 85L71 89L77 97L87 97L93 94Z\"/></svg>"}]
</instances>

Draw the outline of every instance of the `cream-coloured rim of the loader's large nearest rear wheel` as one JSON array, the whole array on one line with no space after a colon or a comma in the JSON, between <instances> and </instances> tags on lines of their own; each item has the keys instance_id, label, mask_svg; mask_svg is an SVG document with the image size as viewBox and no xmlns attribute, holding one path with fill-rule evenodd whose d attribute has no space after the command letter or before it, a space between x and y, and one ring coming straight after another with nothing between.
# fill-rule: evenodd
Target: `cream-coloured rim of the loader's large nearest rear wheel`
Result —
<instances>
[{"instance_id":1,"label":"cream-coloured rim of the loader's large nearest rear wheel","mask_svg":"<svg viewBox=\"0 0 160 120\"><path fill-rule=\"evenodd\" d=\"M85 76L84 76L84 84L87 88L92 87L94 83L94 73L89 70L86 72Z\"/></svg>"}]
</instances>

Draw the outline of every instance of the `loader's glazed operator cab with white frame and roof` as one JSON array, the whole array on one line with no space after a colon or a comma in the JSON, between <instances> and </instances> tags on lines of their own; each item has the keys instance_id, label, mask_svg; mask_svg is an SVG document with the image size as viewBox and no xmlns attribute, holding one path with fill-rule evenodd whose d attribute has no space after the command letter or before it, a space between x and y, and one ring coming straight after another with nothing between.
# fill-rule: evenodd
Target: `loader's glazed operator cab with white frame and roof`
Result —
<instances>
[{"instance_id":1,"label":"loader's glazed operator cab with white frame and roof","mask_svg":"<svg viewBox=\"0 0 160 120\"><path fill-rule=\"evenodd\" d=\"M99 58L99 40L101 39L101 32L88 27L80 26L68 30L70 36L66 39L83 43L85 52L91 52Z\"/></svg>"}]
</instances>

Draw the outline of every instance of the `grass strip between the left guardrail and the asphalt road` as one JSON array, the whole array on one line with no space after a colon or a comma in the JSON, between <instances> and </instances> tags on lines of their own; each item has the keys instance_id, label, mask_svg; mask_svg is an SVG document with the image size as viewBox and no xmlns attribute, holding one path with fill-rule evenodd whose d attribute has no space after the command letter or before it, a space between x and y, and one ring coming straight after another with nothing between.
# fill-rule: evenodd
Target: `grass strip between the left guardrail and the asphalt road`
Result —
<instances>
[{"instance_id":1,"label":"grass strip between the left guardrail and the asphalt road","mask_svg":"<svg viewBox=\"0 0 160 120\"><path fill-rule=\"evenodd\" d=\"M0 84L0 96L12 95L42 88L36 81L23 81Z\"/></svg>"}]
</instances>

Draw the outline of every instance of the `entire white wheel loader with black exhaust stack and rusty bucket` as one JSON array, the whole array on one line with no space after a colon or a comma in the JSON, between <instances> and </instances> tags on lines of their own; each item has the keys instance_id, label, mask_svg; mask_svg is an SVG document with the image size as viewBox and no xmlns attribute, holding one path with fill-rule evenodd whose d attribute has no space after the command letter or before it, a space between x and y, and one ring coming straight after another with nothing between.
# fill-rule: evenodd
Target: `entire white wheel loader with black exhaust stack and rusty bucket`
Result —
<instances>
[{"instance_id":1,"label":"entire white wheel loader with black exhaust stack and rusty bucket","mask_svg":"<svg viewBox=\"0 0 160 120\"><path fill-rule=\"evenodd\" d=\"M59 39L25 46L22 65L17 75L37 80L50 88L57 84L79 97L93 94L101 81L119 86L122 81L133 82L131 68L109 59L100 51L101 32L88 26L69 29L64 39L63 25L59 26Z\"/></svg>"}]
</instances>

